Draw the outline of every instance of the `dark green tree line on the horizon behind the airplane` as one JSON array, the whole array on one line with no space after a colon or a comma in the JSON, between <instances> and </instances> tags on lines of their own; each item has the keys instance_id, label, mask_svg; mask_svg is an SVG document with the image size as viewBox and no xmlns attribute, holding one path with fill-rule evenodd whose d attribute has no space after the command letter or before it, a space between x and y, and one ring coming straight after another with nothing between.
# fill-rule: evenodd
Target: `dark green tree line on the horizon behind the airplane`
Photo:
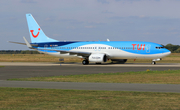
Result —
<instances>
[{"instance_id":1,"label":"dark green tree line on the horizon behind the airplane","mask_svg":"<svg viewBox=\"0 0 180 110\"><path fill-rule=\"evenodd\" d=\"M162 46L170 50L171 53L180 53L180 45L167 44ZM0 50L0 54L40 54L40 53L34 50Z\"/></svg>"}]
</instances>

